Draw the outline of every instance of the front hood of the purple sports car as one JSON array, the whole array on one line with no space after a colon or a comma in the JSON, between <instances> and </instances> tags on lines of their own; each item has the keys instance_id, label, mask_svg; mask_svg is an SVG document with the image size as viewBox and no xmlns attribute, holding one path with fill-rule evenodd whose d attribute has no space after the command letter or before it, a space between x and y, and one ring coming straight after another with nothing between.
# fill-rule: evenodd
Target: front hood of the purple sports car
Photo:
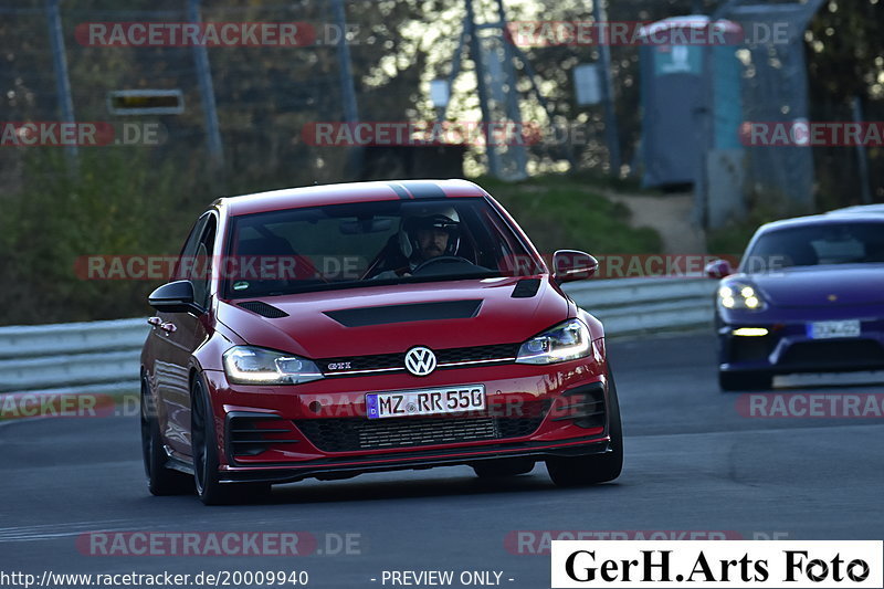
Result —
<instances>
[{"instance_id":1,"label":"front hood of the purple sports car","mask_svg":"<svg viewBox=\"0 0 884 589\"><path fill-rule=\"evenodd\" d=\"M776 306L871 305L884 302L884 265L807 266L748 277Z\"/></svg>"}]
</instances>

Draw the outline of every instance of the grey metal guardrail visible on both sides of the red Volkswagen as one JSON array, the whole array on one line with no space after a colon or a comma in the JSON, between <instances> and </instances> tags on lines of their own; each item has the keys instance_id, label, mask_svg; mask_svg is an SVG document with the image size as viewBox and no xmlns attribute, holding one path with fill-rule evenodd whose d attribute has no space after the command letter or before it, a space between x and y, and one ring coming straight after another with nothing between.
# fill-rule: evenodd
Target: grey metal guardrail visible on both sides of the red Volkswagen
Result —
<instances>
[{"instance_id":1,"label":"grey metal guardrail visible on both sides of the red Volkswagen","mask_svg":"<svg viewBox=\"0 0 884 589\"><path fill-rule=\"evenodd\" d=\"M709 325L716 281L623 278L566 285L608 337ZM144 318L0 327L0 393L126 391L138 387Z\"/></svg>"}]
</instances>

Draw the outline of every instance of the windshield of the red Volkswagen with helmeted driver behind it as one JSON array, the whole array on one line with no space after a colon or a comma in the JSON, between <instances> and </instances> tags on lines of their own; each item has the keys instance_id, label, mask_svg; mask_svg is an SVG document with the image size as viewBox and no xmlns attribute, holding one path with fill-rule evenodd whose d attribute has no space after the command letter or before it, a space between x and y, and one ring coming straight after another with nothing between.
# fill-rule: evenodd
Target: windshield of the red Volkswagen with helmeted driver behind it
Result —
<instances>
[{"instance_id":1,"label":"windshield of the red Volkswagen with helmeted driver behind it","mask_svg":"<svg viewBox=\"0 0 884 589\"><path fill-rule=\"evenodd\" d=\"M543 271L481 198L386 200L234 217L228 298Z\"/></svg>"}]
</instances>

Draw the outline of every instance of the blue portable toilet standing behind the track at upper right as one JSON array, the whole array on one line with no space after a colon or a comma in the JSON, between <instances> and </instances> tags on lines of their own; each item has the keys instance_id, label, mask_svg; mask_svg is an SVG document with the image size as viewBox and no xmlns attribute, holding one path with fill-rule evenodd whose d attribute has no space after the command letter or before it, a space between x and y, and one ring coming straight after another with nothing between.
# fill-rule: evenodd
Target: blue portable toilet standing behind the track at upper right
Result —
<instances>
[{"instance_id":1,"label":"blue portable toilet standing behind the track at upper right","mask_svg":"<svg viewBox=\"0 0 884 589\"><path fill-rule=\"evenodd\" d=\"M640 32L642 104L642 185L693 185L699 173L701 109L707 92L704 52L712 51L713 136L715 149L739 148L743 116L739 24L706 15L675 17ZM705 46L708 39L711 48ZM682 43L682 40L684 42ZM720 41L724 40L724 43ZM693 42L692 42L693 41ZM680 44L682 43L682 44Z\"/></svg>"}]
</instances>

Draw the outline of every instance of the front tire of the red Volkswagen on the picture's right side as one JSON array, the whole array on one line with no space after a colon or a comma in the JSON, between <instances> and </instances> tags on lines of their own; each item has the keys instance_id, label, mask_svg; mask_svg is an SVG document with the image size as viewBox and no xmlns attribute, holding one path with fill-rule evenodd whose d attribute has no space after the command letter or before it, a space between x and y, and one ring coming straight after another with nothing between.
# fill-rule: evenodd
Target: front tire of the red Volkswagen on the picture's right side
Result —
<instances>
[{"instance_id":1,"label":"front tire of the red Volkswagen on the picture's right side","mask_svg":"<svg viewBox=\"0 0 884 589\"><path fill-rule=\"evenodd\" d=\"M608 431L611 451L589 456L547 459L546 470L556 486L575 487L609 483L623 470L623 427L613 374L608 369Z\"/></svg>"}]
</instances>

